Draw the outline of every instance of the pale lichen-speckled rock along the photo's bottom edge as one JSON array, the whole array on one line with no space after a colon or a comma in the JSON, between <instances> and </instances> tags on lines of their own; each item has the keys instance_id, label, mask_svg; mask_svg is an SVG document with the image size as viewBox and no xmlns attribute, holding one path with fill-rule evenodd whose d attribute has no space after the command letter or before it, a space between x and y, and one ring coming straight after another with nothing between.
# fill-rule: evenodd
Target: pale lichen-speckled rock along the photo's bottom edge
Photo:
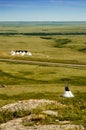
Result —
<instances>
[{"instance_id":1,"label":"pale lichen-speckled rock along the photo's bottom edge","mask_svg":"<svg viewBox=\"0 0 86 130\"><path fill-rule=\"evenodd\" d=\"M20 118L1 124L0 130L84 130L83 126L74 124L24 126L23 120L24 118Z\"/></svg>"}]
</instances>

